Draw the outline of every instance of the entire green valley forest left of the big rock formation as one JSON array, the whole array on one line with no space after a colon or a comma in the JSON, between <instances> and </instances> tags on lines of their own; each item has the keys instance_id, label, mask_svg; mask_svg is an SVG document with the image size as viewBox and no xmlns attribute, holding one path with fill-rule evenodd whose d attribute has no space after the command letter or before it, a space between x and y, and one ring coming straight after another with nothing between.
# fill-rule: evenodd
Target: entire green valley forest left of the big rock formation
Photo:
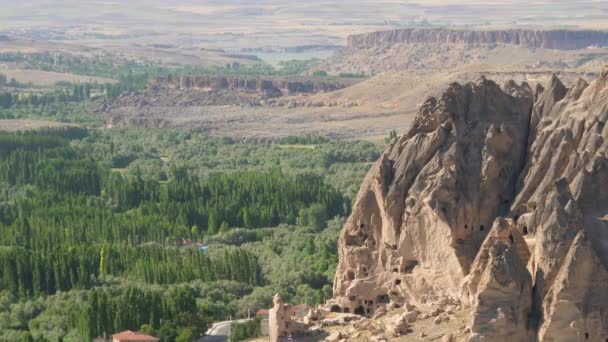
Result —
<instances>
[{"instance_id":1,"label":"entire green valley forest left of the big rock formation","mask_svg":"<svg viewBox=\"0 0 608 342\"><path fill-rule=\"evenodd\" d=\"M276 292L321 303L378 156L367 142L315 136L0 132L0 341L126 329L193 341Z\"/></svg>"}]
</instances>

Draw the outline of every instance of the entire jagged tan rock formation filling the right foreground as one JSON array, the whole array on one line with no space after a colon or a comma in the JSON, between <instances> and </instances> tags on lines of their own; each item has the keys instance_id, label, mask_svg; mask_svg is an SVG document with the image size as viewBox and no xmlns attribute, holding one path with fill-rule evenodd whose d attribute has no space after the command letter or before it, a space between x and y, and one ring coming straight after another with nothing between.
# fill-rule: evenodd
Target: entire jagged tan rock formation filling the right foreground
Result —
<instances>
[{"instance_id":1,"label":"entire jagged tan rock formation filling the right foreground","mask_svg":"<svg viewBox=\"0 0 608 342\"><path fill-rule=\"evenodd\" d=\"M449 299L471 341L608 339L608 68L429 98L365 178L328 309Z\"/></svg>"}]
</instances>

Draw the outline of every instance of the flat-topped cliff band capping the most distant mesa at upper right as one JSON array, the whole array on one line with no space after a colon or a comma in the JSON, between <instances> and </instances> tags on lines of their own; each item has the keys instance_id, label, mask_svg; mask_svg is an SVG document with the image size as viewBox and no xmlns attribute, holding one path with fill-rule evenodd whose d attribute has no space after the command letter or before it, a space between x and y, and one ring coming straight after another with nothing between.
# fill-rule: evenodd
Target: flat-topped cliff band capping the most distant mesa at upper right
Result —
<instances>
[{"instance_id":1,"label":"flat-topped cliff band capping the most distant mesa at upper right","mask_svg":"<svg viewBox=\"0 0 608 342\"><path fill-rule=\"evenodd\" d=\"M368 49L396 43L513 44L527 48L578 50L608 46L608 31L592 30L449 30L399 29L352 35L348 47Z\"/></svg>"}]
</instances>

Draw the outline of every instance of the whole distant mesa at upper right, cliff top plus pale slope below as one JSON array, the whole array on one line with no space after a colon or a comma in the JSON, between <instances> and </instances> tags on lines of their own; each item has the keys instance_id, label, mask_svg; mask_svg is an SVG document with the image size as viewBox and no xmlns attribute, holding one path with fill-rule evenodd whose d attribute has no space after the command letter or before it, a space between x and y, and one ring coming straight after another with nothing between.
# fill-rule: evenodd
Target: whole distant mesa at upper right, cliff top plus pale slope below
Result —
<instances>
[{"instance_id":1,"label":"whole distant mesa at upper right, cliff top plus pale slope below","mask_svg":"<svg viewBox=\"0 0 608 342\"><path fill-rule=\"evenodd\" d=\"M446 70L482 63L509 71L597 70L608 31L401 29L353 35L317 69L330 74Z\"/></svg>"}]
</instances>

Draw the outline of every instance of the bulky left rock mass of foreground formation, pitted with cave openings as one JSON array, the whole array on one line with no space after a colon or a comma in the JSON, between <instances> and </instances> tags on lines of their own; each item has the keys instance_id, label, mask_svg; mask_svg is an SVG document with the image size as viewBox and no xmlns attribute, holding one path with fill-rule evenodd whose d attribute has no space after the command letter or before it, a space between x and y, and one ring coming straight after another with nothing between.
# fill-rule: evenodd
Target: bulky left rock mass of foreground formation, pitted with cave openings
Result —
<instances>
[{"instance_id":1,"label":"bulky left rock mass of foreground formation, pitted with cave openings","mask_svg":"<svg viewBox=\"0 0 608 342\"><path fill-rule=\"evenodd\" d=\"M517 92L486 79L453 84L387 149L339 240L341 310L456 295L524 166L532 91Z\"/></svg>"}]
</instances>

